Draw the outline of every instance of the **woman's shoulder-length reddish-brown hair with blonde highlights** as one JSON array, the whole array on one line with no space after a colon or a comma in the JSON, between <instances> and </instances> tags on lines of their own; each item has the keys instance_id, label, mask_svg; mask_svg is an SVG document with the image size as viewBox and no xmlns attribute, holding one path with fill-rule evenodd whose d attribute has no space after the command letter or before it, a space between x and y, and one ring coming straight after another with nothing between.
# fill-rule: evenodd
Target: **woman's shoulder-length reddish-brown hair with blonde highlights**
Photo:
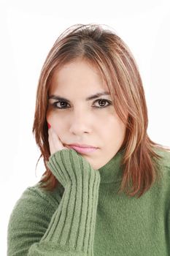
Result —
<instances>
[{"instance_id":1,"label":"woman's shoulder-length reddish-brown hair with blonde highlights","mask_svg":"<svg viewBox=\"0 0 170 256\"><path fill-rule=\"evenodd\" d=\"M46 113L50 80L56 69L77 58L90 61L101 72L114 99L117 115L126 124L125 140L120 148L125 148L120 192L130 196L139 194L140 197L159 176L155 159L161 157L155 148L163 149L163 146L154 143L147 135L144 89L131 50L112 30L98 24L77 24L66 29L56 40L42 67L33 125L36 143L42 153L40 157L43 157L46 167L42 187L52 190L58 184L47 167L50 148ZM128 121L125 111L128 112Z\"/></svg>"}]
</instances>

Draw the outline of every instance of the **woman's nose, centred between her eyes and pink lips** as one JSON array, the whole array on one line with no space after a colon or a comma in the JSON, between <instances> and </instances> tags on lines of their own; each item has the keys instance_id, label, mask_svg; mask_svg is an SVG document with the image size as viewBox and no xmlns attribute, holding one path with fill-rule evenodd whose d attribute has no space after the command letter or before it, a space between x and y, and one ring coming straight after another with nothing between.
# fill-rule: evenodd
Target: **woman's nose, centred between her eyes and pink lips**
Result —
<instances>
[{"instance_id":1,"label":"woman's nose, centred between her eyes and pink lips","mask_svg":"<svg viewBox=\"0 0 170 256\"><path fill-rule=\"evenodd\" d=\"M80 108L73 110L69 131L74 135L89 133L91 131L90 121L90 115L87 111L85 112L85 110L81 110Z\"/></svg>"}]
</instances>

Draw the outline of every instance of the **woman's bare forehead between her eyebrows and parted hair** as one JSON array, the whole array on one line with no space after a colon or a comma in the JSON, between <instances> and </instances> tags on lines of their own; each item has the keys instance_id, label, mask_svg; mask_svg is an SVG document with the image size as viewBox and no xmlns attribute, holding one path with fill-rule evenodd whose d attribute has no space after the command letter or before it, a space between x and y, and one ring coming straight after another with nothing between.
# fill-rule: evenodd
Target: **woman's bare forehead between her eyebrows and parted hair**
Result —
<instances>
[{"instance_id":1,"label":"woman's bare forehead between her eyebrows and parted hair","mask_svg":"<svg viewBox=\"0 0 170 256\"><path fill-rule=\"evenodd\" d=\"M109 91L98 69L85 60L72 61L60 69L56 69L50 83L50 92Z\"/></svg>"}]
</instances>

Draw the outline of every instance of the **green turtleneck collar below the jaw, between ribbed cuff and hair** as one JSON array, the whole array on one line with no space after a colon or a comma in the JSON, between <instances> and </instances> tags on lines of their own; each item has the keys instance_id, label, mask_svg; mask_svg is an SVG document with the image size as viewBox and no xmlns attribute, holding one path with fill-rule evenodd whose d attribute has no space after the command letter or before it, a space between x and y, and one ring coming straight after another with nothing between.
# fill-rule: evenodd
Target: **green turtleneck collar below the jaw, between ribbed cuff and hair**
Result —
<instances>
[{"instance_id":1,"label":"green turtleneck collar below the jaw, between ribbed cuff and hair","mask_svg":"<svg viewBox=\"0 0 170 256\"><path fill-rule=\"evenodd\" d=\"M117 182L122 179L123 166L121 165L125 149L117 151L114 157L106 165L98 169L101 175L101 183Z\"/></svg>"}]
</instances>

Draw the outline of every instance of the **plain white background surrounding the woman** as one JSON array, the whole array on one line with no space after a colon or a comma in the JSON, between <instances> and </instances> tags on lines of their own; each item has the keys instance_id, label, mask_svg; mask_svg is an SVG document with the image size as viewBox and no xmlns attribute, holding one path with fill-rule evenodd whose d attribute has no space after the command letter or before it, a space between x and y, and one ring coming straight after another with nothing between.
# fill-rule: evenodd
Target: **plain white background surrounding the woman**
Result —
<instances>
[{"instance_id":1,"label":"plain white background surrounding the woman","mask_svg":"<svg viewBox=\"0 0 170 256\"><path fill-rule=\"evenodd\" d=\"M148 133L170 146L169 0L1 1L1 255L7 223L23 190L39 181L39 149L31 133L39 72L55 39L75 23L111 26L131 48L147 98Z\"/></svg>"}]
</instances>

